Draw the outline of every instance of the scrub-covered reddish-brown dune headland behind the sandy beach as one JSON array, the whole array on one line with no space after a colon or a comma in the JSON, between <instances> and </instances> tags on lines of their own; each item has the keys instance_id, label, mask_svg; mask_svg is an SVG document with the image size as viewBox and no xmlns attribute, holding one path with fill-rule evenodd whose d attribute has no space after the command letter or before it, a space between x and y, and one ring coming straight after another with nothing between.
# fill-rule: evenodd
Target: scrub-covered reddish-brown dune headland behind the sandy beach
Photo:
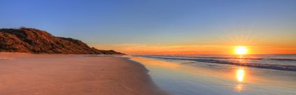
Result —
<instances>
[{"instance_id":1,"label":"scrub-covered reddish-brown dune headland behind the sandy beach","mask_svg":"<svg viewBox=\"0 0 296 95\"><path fill-rule=\"evenodd\" d=\"M0 28L0 52L63 53L63 54L124 54L98 50L80 40L55 37L36 28Z\"/></svg>"}]
</instances>

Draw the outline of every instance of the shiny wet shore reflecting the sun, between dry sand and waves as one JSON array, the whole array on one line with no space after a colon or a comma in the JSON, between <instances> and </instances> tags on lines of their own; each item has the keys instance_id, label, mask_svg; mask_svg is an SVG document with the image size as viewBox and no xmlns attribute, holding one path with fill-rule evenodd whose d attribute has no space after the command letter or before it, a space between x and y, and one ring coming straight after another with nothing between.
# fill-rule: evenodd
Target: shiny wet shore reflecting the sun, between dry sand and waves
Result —
<instances>
[{"instance_id":1,"label":"shiny wet shore reflecting the sun, between dry sand and waves","mask_svg":"<svg viewBox=\"0 0 296 95\"><path fill-rule=\"evenodd\" d=\"M295 71L133 56L171 94L296 94ZM272 92L270 92L272 91Z\"/></svg>"}]
</instances>

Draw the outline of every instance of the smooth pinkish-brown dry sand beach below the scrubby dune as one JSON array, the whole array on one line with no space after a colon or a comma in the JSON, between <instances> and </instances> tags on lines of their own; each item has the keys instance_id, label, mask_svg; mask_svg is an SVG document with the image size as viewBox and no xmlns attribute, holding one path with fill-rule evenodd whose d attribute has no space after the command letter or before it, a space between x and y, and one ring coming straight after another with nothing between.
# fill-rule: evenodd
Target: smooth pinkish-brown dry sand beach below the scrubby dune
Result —
<instances>
[{"instance_id":1,"label":"smooth pinkish-brown dry sand beach below the scrubby dune","mask_svg":"<svg viewBox=\"0 0 296 95\"><path fill-rule=\"evenodd\" d=\"M0 53L0 95L157 95L145 67L121 57Z\"/></svg>"}]
</instances>

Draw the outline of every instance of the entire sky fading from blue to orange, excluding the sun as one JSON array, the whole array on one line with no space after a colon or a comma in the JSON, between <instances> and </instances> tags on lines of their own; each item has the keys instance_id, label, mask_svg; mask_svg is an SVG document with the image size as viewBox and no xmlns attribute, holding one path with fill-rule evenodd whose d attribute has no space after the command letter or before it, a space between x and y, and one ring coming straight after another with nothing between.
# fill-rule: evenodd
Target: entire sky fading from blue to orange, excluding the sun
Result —
<instances>
[{"instance_id":1,"label":"entire sky fading from blue to orange, excluding the sun","mask_svg":"<svg viewBox=\"0 0 296 95\"><path fill-rule=\"evenodd\" d=\"M296 53L296 0L1 0L0 28L130 54Z\"/></svg>"}]
</instances>

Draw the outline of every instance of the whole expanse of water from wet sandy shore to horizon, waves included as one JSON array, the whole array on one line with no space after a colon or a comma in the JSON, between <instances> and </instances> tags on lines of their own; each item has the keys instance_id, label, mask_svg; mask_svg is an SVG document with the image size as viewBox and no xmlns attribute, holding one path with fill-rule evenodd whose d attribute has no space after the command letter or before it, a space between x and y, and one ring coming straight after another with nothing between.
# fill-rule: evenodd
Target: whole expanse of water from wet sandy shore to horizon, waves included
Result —
<instances>
[{"instance_id":1,"label":"whole expanse of water from wet sandy shore to horizon, waves included","mask_svg":"<svg viewBox=\"0 0 296 95\"><path fill-rule=\"evenodd\" d=\"M134 55L176 95L296 94L296 55Z\"/></svg>"}]
</instances>

